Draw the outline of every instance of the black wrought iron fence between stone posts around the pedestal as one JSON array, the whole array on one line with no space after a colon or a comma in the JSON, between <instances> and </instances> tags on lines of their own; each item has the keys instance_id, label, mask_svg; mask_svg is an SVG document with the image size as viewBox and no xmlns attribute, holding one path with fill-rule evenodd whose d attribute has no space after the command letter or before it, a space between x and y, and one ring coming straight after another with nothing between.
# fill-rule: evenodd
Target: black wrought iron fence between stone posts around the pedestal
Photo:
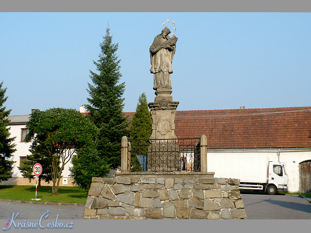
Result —
<instances>
[{"instance_id":1,"label":"black wrought iron fence between stone posts around the pedestal","mask_svg":"<svg viewBox=\"0 0 311 233\"><path fill-rule=\"evenodd\" d=\"M200 138L128 142L129 171L200 171Z\"/></svg>"}]
</instances>

